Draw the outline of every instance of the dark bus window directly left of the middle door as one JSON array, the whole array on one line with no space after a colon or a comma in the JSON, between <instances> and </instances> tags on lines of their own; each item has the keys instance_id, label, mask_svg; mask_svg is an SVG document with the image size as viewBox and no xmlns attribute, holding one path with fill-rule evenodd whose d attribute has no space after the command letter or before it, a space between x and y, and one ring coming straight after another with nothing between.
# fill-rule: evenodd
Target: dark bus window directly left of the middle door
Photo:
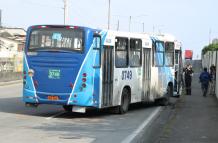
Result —
<instances>
[{"instance_id":1,"label":"dark bus window directly left of the middle door","mask_svg":"<svg viewBox=\"0 0 218 143\"><path fill-rule=\"evenodd\" d=\"M141 52L142 52L142 40L130 39L130 67L141 66Z\"/></svg>"}]
</instances>

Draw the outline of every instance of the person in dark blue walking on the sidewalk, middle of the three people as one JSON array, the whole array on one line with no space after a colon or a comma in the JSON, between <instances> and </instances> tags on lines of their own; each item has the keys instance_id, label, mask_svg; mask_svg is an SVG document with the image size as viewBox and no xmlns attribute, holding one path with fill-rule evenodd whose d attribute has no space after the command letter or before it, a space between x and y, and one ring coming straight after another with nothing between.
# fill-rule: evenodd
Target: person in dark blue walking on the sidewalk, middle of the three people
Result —
<instances>
[{"instance_id":1,"label":"person in dark blue walking on the sidewalk, middle of the three people","mask_svg":"<svg viewBox=\"0 0 218 143\"><path fill-rule=\"evenodd\" d=\"M201 89L202 89L202 92L203 92L203 96L206 97L207 90L208 90L208 85L209 85L209 82L211 81L211 76L207 72L207 68L204 68L204 71L201 72L199 80L201 82Z\"/></svg>"}]
</instances>

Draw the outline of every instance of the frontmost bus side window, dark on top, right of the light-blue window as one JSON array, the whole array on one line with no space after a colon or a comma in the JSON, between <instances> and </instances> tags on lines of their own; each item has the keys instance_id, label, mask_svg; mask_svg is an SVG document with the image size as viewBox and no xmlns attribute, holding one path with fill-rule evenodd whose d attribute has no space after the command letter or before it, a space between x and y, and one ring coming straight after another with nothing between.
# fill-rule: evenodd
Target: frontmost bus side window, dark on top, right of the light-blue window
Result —
<instances>
[{"instance_id":1,"label":"frontmost bus side window, dark on top, right of the light-blue window","mask_svg":"<svg viewBox=\"0 0 218 143\"><path fill-rule=\"evenodd\" d=\"M173 42L165 43L165 65L166 66L174 65L174 43Z\"/></svg>"}]
</instances>

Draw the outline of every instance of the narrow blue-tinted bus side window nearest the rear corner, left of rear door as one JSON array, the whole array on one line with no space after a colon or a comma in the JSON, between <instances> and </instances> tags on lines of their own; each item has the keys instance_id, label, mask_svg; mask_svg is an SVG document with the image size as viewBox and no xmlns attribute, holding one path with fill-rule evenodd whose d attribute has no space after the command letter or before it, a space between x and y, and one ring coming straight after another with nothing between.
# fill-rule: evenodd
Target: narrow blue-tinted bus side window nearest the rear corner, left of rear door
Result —
<instances>
[{"instance_id":1,"label":"narrow blue-tinted bus side window nearest the rear corner, left of rear door","mask_svg":"<svg viewBox=\"0 0 218 143\"><path fill-rule=\"evenodd\" d=\"M101 67L101 36L94 35L93 38L93 52L94 52L94 63L93 68Z\"/></svg>"}]
</instances>

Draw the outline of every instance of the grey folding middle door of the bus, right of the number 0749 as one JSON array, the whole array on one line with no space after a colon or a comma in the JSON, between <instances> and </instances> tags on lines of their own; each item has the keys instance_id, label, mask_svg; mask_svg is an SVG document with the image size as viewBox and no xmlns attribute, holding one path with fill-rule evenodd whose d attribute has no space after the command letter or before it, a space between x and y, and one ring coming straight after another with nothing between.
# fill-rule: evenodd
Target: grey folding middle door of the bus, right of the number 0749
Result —
<instances>
[{"instance_id":1,"label":"grey folding middle door of the bus, right of the number 0749","mask_svg":"<svg viewBox=\"0 0 218 143\"><path fill-rule=\"evenodd\" d=\"M151 49L143 49L143 93L142 101L149 101L151 84Z\"/></svg>"}]
</instances>

